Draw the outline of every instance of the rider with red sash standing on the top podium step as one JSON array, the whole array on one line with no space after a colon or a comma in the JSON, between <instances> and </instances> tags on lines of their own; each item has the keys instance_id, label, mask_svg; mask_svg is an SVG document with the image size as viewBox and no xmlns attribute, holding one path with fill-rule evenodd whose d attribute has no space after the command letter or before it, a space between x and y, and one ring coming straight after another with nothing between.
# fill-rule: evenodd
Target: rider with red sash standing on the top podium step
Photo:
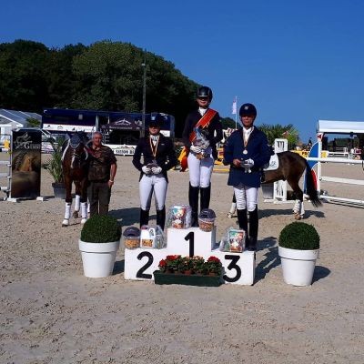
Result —
<instances>
[{"instance_id":1,"label":"rider with red sash standing on the top podium step","mask_svg":"<svg viewBox=\"0 0 364 364\"><path fill-rule=\"evenodd\" d=\"M217 111L209 108L212 90L207 86L197 89L198 108L187 115L182 134L187 157L189 188L188 201L192 208L192 226L197 226L198 195L200 209L209 207L211 175L217 158L217 143L222 139L222 126Z\"/></svg>"}]
</instances>

